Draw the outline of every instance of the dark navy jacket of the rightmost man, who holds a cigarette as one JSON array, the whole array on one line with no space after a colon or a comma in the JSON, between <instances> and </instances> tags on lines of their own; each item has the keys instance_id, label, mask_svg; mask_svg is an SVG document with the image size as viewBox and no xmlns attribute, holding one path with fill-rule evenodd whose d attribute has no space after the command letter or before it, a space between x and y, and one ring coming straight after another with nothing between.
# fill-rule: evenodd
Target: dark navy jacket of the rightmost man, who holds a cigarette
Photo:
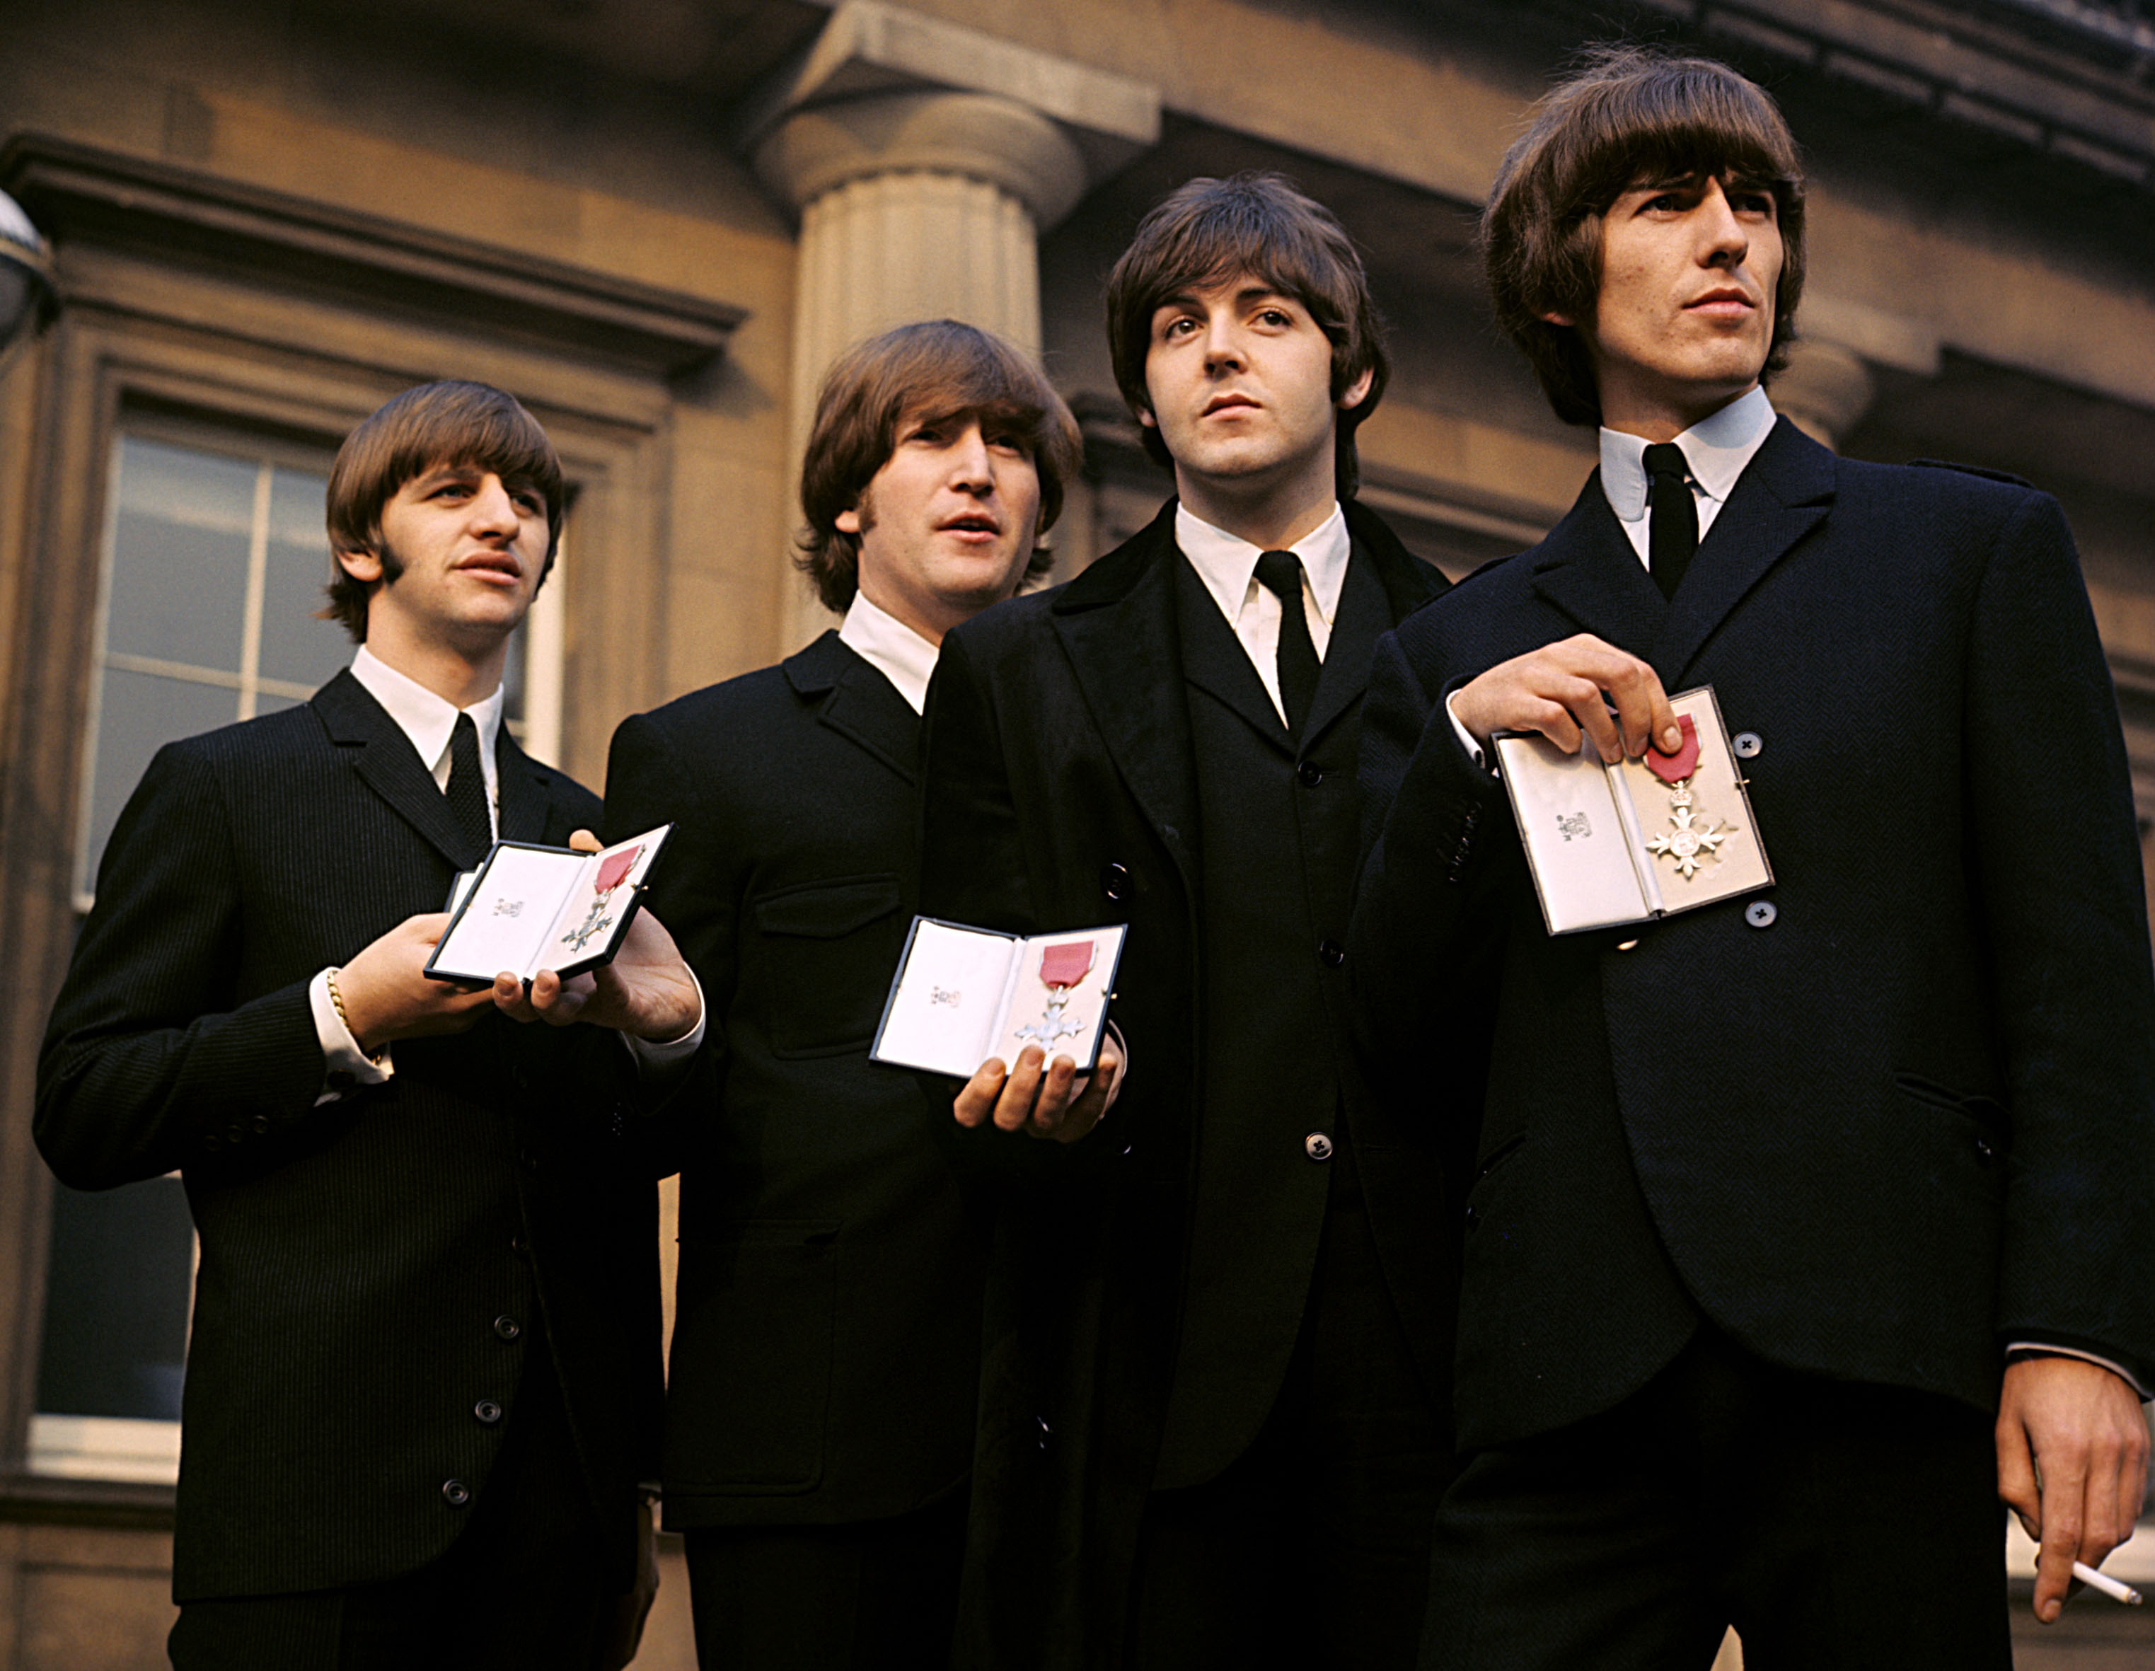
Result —
<instances>
[{"instance_id":1,"label":"dark navy jacket of the rightmost man, who holds a cigarette","mask_svg":"<svg viewBox=\"0 0 2155 1671\"><path fill-rule=\"evenodd\" d=\"M1758 901L1543 931L1442 696L1575 632L1672 692L1711 683L1756 735ZM1379 649L1364 798L1381 1046L1493 1022L1465 1442L1614 1404L1698 1315L1795 1369L1985 1408L2015 1339L2155 1371L2140 854L2054 500L1836 459L1782 418L1664 604L1593 479Z\"/></svg>"}]
</instances>

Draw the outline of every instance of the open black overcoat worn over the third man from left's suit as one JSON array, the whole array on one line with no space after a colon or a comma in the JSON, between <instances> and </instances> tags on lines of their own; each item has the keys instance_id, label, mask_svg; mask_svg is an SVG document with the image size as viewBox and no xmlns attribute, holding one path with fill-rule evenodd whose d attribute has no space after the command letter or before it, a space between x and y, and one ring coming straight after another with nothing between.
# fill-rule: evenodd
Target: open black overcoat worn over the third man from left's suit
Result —
<instances>
[{"instance_id":1,"label":"open black overcoat worn over the third man from left's suit","mask_svg":"<svg viewBox=\"0 0 2155 1671\"><path fill-rule=\"evenodd\" d=\"M1444 589L1375 515L1349 505L1347 520L1390 621ZM929 692L922 912L1021 934L1129 923L1114 998L1129 1089L1002 1216L963 1665L1121 1662L1174 1369L1202 1095L1181 561L1168 505L1067 586L944 638ZM1345 789L1353 761L1327 761L1323 744L1362 690L1360 679L1330 688L1338 707L1312 707L1304 755L1334 765L1327 783ZM1442 1373L1448 1259L1431 1246L1431 1231L1446 1233L1429 1212L1435 1158L1373 1100L1349 1100L1349 1125L1386 1281L1422 1363Z\"/></svg>"}]
</instances>

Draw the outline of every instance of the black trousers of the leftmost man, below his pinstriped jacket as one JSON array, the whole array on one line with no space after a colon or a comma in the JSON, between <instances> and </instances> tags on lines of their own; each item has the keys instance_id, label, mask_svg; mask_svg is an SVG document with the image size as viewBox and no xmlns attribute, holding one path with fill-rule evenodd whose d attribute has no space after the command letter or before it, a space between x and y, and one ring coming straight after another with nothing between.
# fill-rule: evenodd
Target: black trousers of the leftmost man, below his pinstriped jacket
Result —
<instances>
[{"instance_id":1,"label":"black trousers of the leftmost man, below his pinstriped jacket","mask_svg":"<svg viewBox=\"0 0 2155 1671\"><path fill-rule=\"evenodd\" d=\"M599 1524L552 1358L530 1345L502 1451L446 1555L375 1585L183 1602L177 1671L595 1671L634 1527Z\"/></svg>"}]
</instances>

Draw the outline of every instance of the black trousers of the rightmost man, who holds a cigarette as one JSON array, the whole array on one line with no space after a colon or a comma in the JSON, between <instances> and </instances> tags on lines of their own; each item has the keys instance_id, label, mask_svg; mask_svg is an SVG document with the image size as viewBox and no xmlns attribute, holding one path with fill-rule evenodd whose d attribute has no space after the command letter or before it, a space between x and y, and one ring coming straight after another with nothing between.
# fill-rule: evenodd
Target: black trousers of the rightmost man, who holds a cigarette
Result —
<instances>
[{"instance_id":1,"label":"black trousers of the rightmost man, who holds a cigarette","mask_svg":"<svg viewBox=\"0 0 2155 1671\"><path fill-rule=\"evenodd\" d=\"M1422 1671L2006 1671L1991 1419L1705 1328L1649 1386L1468 1458Z\"/></svg>"}]
</instances>

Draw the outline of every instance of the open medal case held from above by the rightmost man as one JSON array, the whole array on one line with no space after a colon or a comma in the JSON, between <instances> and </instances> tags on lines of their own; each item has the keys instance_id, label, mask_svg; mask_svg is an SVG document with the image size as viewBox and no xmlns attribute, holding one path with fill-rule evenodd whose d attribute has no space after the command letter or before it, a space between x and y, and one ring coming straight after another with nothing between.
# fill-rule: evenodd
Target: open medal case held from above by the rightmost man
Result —
<instances>
[{"instance_id":1,"label":"open medal case held from above by the rightmost man","mask_svg":"<svg viewBox=\"0 0 2155 1671\"><path fill-rule=\"evenodd\" d=\"M1603 765L1539 733L1496 737L1549 934L1649 923L1774 884L1713 686L1670 699L1674 755Z\"/></svg>"}]
</instances>

